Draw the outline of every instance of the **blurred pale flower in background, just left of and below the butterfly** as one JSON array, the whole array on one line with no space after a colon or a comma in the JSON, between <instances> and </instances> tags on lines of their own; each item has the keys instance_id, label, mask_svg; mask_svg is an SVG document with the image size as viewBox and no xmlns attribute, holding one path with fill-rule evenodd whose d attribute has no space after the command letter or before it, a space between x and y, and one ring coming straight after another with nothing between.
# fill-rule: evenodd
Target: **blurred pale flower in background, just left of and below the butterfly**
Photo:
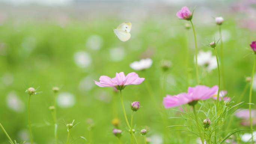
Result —
<instances>
[{"instance_id":1,"label":"blurred pale flower in background, just left of and below the butterfly","mask_svg":"<svg viewBox=\"0 0 256 144\"><path fill-rule=\"evenodd\" d=\"M86 48L92 50L99 50L103 45L103 39L101 36L92 35L89 36L86 40Z\"/></svg>"}]
</instances>

